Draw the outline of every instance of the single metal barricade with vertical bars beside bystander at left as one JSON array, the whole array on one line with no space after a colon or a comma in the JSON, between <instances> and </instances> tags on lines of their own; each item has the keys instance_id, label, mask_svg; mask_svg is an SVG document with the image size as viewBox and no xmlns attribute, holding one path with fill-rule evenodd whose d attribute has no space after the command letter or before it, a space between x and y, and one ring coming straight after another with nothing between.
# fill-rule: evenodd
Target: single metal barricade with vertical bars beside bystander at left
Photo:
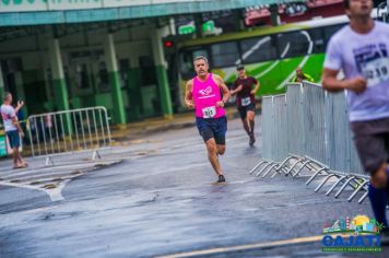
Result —
<instances>
[{"instance_id":1,"label":"single metal barricade with vertical bars beside bystander at left","mask_svg":"<svg viewBox=\"0 0 389 258\"><path fill-rule=\"evenodd\" d=\"M79 152L92 152L92 160L99 159L98 151L110 148L105 107L33 115L27 125L32 156L46 157L46 165L54 164L54 156Z\"/></svg>"}]
</instances>

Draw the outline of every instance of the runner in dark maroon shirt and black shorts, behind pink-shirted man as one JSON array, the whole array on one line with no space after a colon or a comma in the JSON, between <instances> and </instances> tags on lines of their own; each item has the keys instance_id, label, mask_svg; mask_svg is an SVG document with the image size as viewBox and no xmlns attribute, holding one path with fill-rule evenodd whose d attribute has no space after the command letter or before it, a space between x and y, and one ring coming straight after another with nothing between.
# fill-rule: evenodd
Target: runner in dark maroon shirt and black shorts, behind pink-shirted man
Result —
<instances>
[{"instance_id":1,"label":"runner in dark maroon shirt and black shorts, behind pink-shirted man","mask_svg":"<svg viewBox=\"0 0 389 258\"><path fill-rule=\"evenodd\" d=\"M256 93L259 90L259 81L254 77L246 74L245 67L239 64L236 68L238 79L233 84L231 95L236 94L236 107L238 109L243 126L249 137L249 145L252 146L256 142L254 132L256 117Z\"/></svg>"}]
</instances>

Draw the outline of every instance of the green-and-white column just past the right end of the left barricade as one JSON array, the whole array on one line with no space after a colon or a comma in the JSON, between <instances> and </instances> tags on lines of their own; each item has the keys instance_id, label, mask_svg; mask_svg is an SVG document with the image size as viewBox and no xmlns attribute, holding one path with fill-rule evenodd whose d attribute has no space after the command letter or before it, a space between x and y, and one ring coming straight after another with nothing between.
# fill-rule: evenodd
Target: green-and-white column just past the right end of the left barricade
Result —
<instances>
[{"instance_id":1,"label":"green-and-white column just past the right end of the left barricade","mask_svg":"<svg viewBox=\"0 0 389 258\"><path fill-rule=\"evenodd\" d=\"M114 35L111 33L108 33L106 35L104 50L109 74L109 83L111 86L110 89L114 103L114 124L123 126L127 121L126 109L122 101L122 92L120 86L118 62L116 59Z\"/></svg>"}]
</instances>

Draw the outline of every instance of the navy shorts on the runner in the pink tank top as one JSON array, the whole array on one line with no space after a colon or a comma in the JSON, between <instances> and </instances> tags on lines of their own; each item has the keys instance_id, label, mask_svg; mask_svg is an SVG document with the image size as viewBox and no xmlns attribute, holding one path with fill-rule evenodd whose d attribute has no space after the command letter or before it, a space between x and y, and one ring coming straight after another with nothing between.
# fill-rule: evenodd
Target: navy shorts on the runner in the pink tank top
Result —
<instances>
[{"instance_id":1,"label":"navy shorts on the runner in the pink tank top","mask_svg":"<svg viewBox=\"0 0 389 258\"><path fill-rule=\"evenodd\" d=\"M214 138L216 144L225 145L225 133L227 132L227 118L225 116L219 118L196 117L196 125L204 142Z\"/></svg>"}]
</instances>

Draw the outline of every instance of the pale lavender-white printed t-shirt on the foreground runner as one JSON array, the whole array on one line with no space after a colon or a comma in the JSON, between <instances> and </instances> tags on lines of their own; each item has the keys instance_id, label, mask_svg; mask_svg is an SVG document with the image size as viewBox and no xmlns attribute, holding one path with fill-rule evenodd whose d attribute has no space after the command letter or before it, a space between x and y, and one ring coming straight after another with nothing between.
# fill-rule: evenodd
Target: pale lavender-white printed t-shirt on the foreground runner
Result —
<instances>
[{"instance_id":1,"label":"pale lavender-white printed t-shirt on the foreground runner","mask_svg":"<svg viewBox=\"0 0 389 258\"><path fill-rule=\"evenodd\" d=\"M363 93L347 91L350 121L389 118L389 24L375 21L367 34L350 25L341 28L330 39L325 68L343 70L345 79L367 80Z\"/></svg>"}]
</instances>

